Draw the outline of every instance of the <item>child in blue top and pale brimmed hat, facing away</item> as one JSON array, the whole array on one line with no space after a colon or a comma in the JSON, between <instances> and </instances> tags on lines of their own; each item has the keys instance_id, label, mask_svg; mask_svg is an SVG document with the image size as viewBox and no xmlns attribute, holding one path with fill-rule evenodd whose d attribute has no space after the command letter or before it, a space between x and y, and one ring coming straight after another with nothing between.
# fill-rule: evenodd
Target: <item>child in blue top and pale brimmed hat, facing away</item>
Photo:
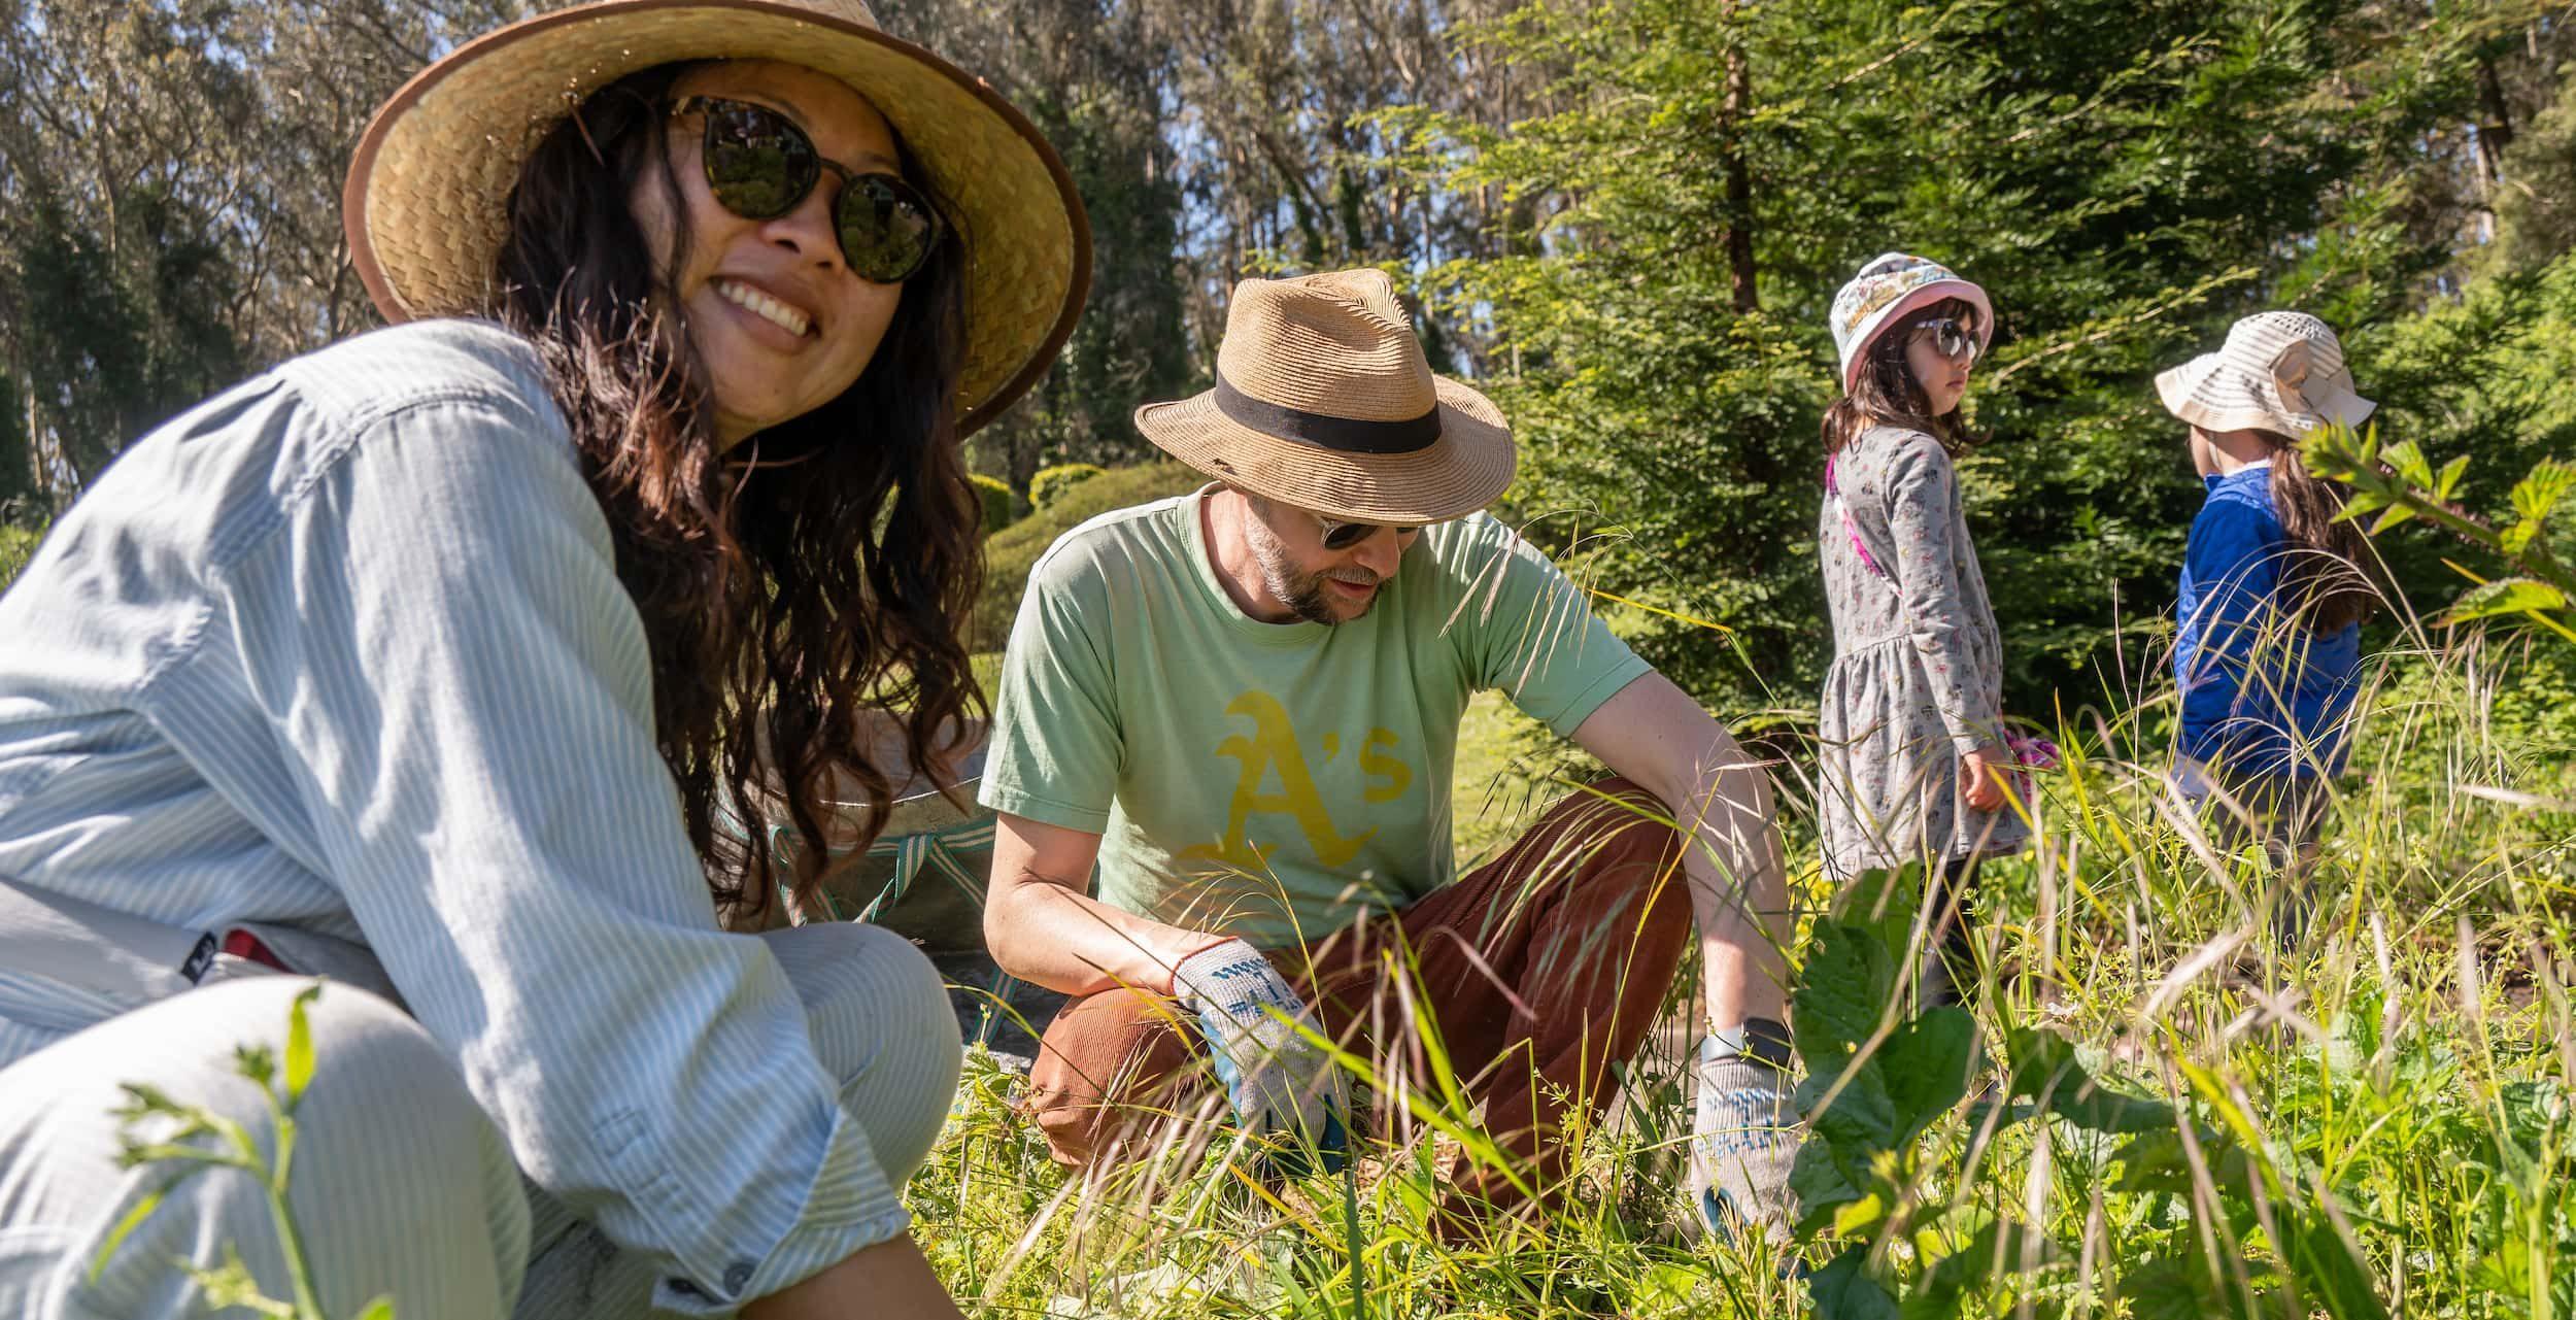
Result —
<instances>
[{"instance_id":1,"label":"child in blue top and pale brimmed hat, facing away","mask_svg":"<svg viewBox=\"0 0 2576 1320\"><path fill-rule=\"evenodd\" d=\"M2156 394L2208 487L2174 603L2177 781L2210 804L2221 843L2259 840L2280 864L2275 933L2293 938L2378 601L2370 544L2336 521L2342 492L2306 469L2300 441L2378 405L2306 312L2239 320L2215 353L2159 374Z\"/></svg>"}]
</instances>

